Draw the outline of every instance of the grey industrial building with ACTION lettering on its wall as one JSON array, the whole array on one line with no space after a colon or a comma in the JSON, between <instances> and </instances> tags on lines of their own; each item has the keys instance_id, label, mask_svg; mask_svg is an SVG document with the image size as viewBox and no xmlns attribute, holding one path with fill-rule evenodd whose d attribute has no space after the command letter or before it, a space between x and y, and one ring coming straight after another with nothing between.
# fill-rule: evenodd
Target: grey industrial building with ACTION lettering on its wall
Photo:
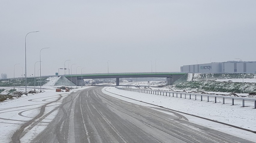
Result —
<instances>
[{"instance_id":1,"label":"grey industrial building with ACTION lettering on its wall","mask_svg":"<svg viewBox=\"0 0 256 143\"><path fill-rule=\"evenodd\" d=\"M190 73L256 73L256 61L227 61L208 64L192 64L181 67Z\"/></svg>"}]
</instances>

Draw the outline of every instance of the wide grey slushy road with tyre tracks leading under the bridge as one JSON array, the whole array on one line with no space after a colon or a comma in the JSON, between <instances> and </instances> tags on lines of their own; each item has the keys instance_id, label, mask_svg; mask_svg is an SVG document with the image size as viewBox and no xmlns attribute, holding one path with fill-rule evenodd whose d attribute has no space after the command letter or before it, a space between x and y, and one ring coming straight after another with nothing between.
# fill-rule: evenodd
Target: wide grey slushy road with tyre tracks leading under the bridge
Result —
<instances>
[{"instance_id":1,"label":"wide grey slushy road with tyre tracks leading under the bridge","mask_svg":"<svg viewBox=\"0 0 256 143\"><path fill-rule=\"evenodd\" d=\"M108 96L102 87L90 87L71 93L62 104L48 113L56 113L49 124L35 117L12 136L13 142L249 142L187 121L170 112L140 106ZM57 96L49 104L59 104ZM42 111L42 110L41 110ZM40 112L47 116L44 112ZM43 117L44 117L43 116ZM44 119L44 118L43 118ZM33 136L34 127L46 126ZM30 133L31 132L31 133ZM28 136L26 134L32 134Z\"/></svg>"}]
</instances>

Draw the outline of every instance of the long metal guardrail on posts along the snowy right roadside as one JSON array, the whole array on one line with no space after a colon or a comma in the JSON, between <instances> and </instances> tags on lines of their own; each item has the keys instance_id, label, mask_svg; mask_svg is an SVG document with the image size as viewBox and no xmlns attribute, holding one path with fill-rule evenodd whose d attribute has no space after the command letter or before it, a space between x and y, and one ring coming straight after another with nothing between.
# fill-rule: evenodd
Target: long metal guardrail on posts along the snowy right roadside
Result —
<instances>
[{"instance_id":1,"label":"long metal guardrail on posts along the snowy right roadside","mask_svg":"<svg viewBox=\"0 0 256 143\"><path fill-rule=\"evenodd\" d=\"M155 94L155 95L165 95L169 94L169 97L172 95L176 95L176 98L182 98L184 95L184 99L191 99L191 96L194 96L194 99L197 100L197 97L200 98L200 101L203 101L203 97L207 97L207 102L209 102L209 97L214 97L214 103L217 102L217 97L222 98L222 104L225 104L225 99L231 99L232 105L234 105L234 100L241 100L242 107L245 107L245 101L252 101L254 102L254 109L256 109L256 98L248 98L248 97L233 97L233 96L222 96L222 95L211 95L211 94L200 94L200 93L185 93L185 92L173 92L173 91L162 91L162 90L146 90L146 89L136 89L136 88L124 88L124 87L115 87L120 90L128 90L140 93L148 93L148 94ZM188 98L187 98L188 97Z\"/></svg>"}]
</instances>

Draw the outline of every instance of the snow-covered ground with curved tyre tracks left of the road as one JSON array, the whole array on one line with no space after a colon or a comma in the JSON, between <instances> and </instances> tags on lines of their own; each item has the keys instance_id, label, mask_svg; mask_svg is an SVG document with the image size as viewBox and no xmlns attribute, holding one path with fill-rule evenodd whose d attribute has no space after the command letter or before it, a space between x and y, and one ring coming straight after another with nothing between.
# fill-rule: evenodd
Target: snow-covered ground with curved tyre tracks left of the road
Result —
<instances>
[{"instance_id":1,"label":"snow-covered ground with curved tyre tracks left of the road","mask_svg":"<svg viewBox=\"0 0 256 143\"><path fill-rule=\"evenodd\" d=\"M79 89L73 89L72 92L76 92L81 89L89 87L83 87ZM24 89L23 89L24 90ZM25 122L34 118L40 112L40 107L46 103L52 102L61 98L58 102L48 104L45 108L44 115L61 104L62 99L68 96L70 93L55 92L55 88L46 87L45 92L35 95L24 96L18 99L10 100L0 103L0 139L1 143L11 142L12 134ZM45 117L41 123L35 125L32 130L21 139L21 142L29 142L31 139L37 136L44 128L52 121L56 116L58 110L50 113ZM43 116L44 116L43 115Z\"/></svg>"}]
</instances>

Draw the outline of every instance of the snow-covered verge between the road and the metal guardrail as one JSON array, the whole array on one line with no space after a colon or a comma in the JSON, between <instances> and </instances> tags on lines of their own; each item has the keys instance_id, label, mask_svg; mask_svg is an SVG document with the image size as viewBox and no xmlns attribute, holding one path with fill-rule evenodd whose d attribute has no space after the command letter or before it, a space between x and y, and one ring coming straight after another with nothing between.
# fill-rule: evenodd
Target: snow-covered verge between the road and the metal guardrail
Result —
<instances>
[{"instance_id":1,"label":"snow-covered verge between the road and the metal guardrail","mask_svg":"<svg viewBox=\"0 0 256 143\"><path fill-rule=\"evenodd\" d=\"M139 101L156 104L156 105L170 108L173 110L178 110L184 113L205 117L208 119L212 119L212 120L216 120L216 121L220 121L220 122L224 122L224 123L232 124L238 127L256 131L256 124L255 124L256 109L253 109L253 103L245 103L248 105L248 107L241 107L240 102L235 102L236 105L231 106L230 105L231 101L226 101L225 104L222 104L222 102L213 103L212 101L214 99L210 99L211 102L206 102L206 99L204 99L204 101L201 102L199 100L195 101L193 99L190 99L190 100L184 99L184 97L183 99L180 99L172 96L171 97L160 96L160 95L152 95L147 93L138 93L138 92L132 92L132 91L126 91L126 90L119 90L115 87L106 87L102 89L103 93L108 94L110 96L113 96L128 102L149 106L149 107L151 105L145 104L142 102L136 102L131 99L127 99L115 94L111 94L107 91L121 95L121 96L136 99ZM254 133L244 131L244 130L239 130L239 129L218 124L215 122L210 122L208 120L199 119L194 116L189 116L186 114L184 114L183 116L187 117L191 122L194 122L196 124L200 124L205 127L213 128L215 130L219 130L234 136L239 136L241 138L256 142Z\"/></svg>"}]
</instances>

